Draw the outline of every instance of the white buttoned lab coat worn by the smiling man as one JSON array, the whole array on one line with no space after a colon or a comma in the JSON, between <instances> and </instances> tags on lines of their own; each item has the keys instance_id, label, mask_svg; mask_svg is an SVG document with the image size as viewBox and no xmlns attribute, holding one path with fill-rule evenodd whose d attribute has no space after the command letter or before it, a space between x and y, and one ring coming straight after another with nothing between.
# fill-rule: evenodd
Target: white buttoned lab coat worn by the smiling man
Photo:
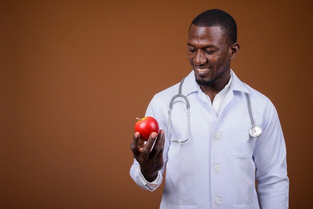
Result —
<instances>
[{"instance_id":1,"label":"white buttoned lab coat worn by the smiling man","mask_svg":"<svg viewBox=\"0 0 313 209\"><path fill-rule=\"evenodd\" d=\"M243 84L233 72L232 76L218 116L195 82L194 72L185 78L182 94L190 103L190 139L172 143L165 136L166 175L160 208L288 208L286 150L277 112L266 96ZM178 84L157 93L146 111L165 133L168 104L177 92ZM245 93L250 96L254 122L263 130L257 138L249 135ZM172 139L186 137L184 102L173 104L169 134ZM153 190L142 180L138 166L134 160L131 177L142 188ZM165 166L155 187L162 181Z\"/></svg>"}]
</instances>

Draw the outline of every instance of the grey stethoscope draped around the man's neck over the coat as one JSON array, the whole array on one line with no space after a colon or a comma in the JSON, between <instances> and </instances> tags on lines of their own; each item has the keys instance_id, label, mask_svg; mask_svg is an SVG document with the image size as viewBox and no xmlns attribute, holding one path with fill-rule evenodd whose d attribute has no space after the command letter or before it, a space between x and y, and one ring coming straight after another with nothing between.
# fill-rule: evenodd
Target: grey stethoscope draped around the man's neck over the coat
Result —
<instances>
[{"instance_id":1,"label":"grey stethoscope draped around the man's neck over the coat","mask_svg":"<svg viewBox=\"0 0 313 209\"><path fill-rule=\"evenodd\" d=\"M167 138L171 142L177 142L177 143L186 142L190 137L190 104L189 104L187 97L181 93L181 86L182 86L184 79L185 79L185 77L180 81L179 87L178 87L178 93L170 99L169 106L168 106ZM249 129L249 134L252 137L258 137L262 133L262 128L254 123L252 111L251 111L250 97L249 97L248 93L245 93L245 95L246 95L246 100L247 100L247 104L248 104L248 111L249 111L249 116L250 116L251 125L252 125ZM188 132L187 132L187 138L185 140L171 139L171 136L169 136L170 115L171 115L172 104L177 97L182 97L186 101L186 108L187 108L187 115L188 115Z\"/></svg>"}]
</instances>

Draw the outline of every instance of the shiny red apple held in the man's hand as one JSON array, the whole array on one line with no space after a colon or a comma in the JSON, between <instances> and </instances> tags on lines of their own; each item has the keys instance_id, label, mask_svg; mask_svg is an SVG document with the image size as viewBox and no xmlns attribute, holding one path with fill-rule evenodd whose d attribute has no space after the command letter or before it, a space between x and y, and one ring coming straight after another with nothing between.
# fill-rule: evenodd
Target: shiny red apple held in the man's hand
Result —
<instances>
[{"instance_id":1,"label":"shiny red apple held in the man's hand","mask_svg":"<svg viewBox=\"0 0 313 209\"><path fill-rule=\"evenodd\" d=\"M140 138L147 141L152 132L159 133L160 129L156 119L151 116L146 116L143 118L136 118L138 121L135 124L135 131L140 133Z\"/></svg>"}]
</instances>

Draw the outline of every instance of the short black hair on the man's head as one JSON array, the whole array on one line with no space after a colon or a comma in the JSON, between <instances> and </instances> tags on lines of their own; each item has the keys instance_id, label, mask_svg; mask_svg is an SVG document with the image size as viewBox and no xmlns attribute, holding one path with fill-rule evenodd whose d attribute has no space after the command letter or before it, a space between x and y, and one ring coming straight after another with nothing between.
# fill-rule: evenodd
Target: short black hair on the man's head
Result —
<instances>
[{"instance_id":1,"label":"short black hair on the man's head","mask_svg":"<svg viewBox=\"0 0 313 209\"><path fill-rule=\"evenodd\" d=\"M203 11L192 20L191 24L199 27L219 26L229 45L237 42L236 21L223 10L214 8Z\"/></svg>"}]
</instances>

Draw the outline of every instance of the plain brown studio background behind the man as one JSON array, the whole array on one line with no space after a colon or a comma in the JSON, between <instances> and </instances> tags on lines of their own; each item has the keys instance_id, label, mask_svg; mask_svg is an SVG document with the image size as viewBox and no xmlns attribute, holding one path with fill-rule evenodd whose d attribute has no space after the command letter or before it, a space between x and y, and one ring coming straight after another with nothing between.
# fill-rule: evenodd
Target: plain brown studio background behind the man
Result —
<instances>
[{"instance_id":1,"label":"plain brown studio background behind the man","mask_svg":"<svg viewBox=\"0 0 313 209\"><path fill-rule=\"evenodd\" d=\"M129 177L135 117L190 71L188 26L215 7L237 22L232 69L277 108L290 208L310 208L309 0L2 1L0 208L158 208Z\"/></svg>"}]
</instances>

